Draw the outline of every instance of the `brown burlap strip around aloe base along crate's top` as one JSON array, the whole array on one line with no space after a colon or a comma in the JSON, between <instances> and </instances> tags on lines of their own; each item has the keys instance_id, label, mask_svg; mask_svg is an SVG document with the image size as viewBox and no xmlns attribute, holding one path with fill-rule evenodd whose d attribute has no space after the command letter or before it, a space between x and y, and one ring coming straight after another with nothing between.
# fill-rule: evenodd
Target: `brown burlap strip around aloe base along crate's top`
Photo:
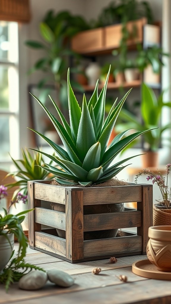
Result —
<instances>
[{"instance_id":1,"label":"brown burlap strip around aloe base along crate's top","mask_svg":"<svg viewBox=\"0 0 171 304\"><path fill-rule=\"evenodd\" d=\"M128 186L129 184L126 183L126 181L119 181L117 178L112 178L109 181L105 181L104 183L98 184L98 185L89 185L89 186L82 186L82 185L74 185L74 186L68 186L68 185L60 185L58 184L55 179L52 181L53 185L58 186L64 186L64 187L76 187L76 188L91 188L91 187L112 187L112 186Z\"/></svg>"}]
</instances>

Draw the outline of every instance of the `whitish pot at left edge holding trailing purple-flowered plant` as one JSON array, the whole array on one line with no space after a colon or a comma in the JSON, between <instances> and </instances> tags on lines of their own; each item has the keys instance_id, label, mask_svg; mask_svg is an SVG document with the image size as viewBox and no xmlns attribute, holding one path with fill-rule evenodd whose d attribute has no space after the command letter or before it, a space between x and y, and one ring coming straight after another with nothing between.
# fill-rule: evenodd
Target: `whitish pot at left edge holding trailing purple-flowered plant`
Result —
<instances>
[{"instance_id":1,"label":"whitish pot at left edge holding trailing purple-flowered plant","mask_svg":"<svg viewBox=\"0 0 171 304\"><path fill-rule=\"evenodd\" d=\"M7 230L4 230L4 234L7 233ZM0 271L6 266L9 262L9 259L14 248L14 234L7 234L9 241L3 235L0 235ZM10 245L11 244L11 245Z\"/></svg>"}]
</instances>

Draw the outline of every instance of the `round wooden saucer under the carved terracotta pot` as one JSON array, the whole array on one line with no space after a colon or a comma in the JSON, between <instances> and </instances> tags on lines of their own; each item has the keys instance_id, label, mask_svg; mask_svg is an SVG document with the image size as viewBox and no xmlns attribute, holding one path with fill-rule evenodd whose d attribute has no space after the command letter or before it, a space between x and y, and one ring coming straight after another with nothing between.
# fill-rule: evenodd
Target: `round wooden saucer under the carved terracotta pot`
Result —
<instances>
[{"instance_id":1,"label":"round wooden saucer under the carved terracotta pot","mask_svg":"<svg viewBox=\"0 0 171 304\"><path fill-rule=\"evenodd\" d=\"M132 264L132 272L141 277L158 279L158 280L171 280L171 272L164 272L157 270L149 260L141 260Z\"/></svg>"}]
</instances>

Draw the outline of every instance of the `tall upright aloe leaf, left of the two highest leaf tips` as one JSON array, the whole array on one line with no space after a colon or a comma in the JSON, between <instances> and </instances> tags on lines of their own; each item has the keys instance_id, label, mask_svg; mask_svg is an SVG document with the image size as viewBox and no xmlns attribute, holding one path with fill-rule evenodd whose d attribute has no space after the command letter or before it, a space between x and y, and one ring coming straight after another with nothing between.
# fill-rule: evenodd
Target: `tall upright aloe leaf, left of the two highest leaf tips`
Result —
<instances>
[{"instance_id":1,"label":"tall upright aloe leaf, left of the two highest leaf tips","mask_svg":"<svg viewBox=\"0 0 171 304\"><path fill-rule=\"evenodd\" d=\"M69 69L68 69L68 107L69 107L71 133L73 140L76 141L78 129L79 129L79 121L81 118L81 108L75 98L74 92L70 84Z\"/></svg>"}]
</instances>

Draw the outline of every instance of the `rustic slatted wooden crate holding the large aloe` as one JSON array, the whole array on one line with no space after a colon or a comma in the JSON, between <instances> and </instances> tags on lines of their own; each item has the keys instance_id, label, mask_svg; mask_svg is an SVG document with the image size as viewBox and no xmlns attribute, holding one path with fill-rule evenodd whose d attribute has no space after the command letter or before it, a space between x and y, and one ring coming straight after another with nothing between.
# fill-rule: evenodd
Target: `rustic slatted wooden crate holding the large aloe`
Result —
<instances>
[{"instance_id":1,"label":"rustic slatted wooden crate holding the large aloe","mask_svg":"<svg viewBox=\"0 0 171 304\"><path fill-rule=\"evenodd\" d=\"M152 185L75 188L29 181L28 195L29 209L34 208L29 213L29 244L33 249L72 263L146 253L148 227L152 226ZM42 208L41 201L65 205L65 212ZM137 210L83 214L84 205L122 202L137 202ZM41 224L53 228L42 230ZM137 227L137 235L121 232L115 238L83 240L84 231L129 227ZM65 230L66 239L58 237L54 228Z\"/></svg>"}]
</instances>

